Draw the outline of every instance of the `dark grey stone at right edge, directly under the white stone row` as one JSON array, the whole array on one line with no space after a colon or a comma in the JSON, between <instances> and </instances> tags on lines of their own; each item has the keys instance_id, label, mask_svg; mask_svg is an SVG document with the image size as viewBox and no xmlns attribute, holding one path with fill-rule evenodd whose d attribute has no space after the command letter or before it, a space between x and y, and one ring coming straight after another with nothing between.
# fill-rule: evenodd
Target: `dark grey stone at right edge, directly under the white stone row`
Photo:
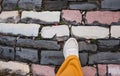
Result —
<instances>
[{"instance_id":1,"label":"dark grey stone at right edge, directly under the white stone row","mask_svg":"<svg viewBox=\"0 0 120 76\"><path fill-rule=\"evenodd\" d=\"M119 51L120 40L98 40L99 51Z\"/></svg>"}]
</instances>

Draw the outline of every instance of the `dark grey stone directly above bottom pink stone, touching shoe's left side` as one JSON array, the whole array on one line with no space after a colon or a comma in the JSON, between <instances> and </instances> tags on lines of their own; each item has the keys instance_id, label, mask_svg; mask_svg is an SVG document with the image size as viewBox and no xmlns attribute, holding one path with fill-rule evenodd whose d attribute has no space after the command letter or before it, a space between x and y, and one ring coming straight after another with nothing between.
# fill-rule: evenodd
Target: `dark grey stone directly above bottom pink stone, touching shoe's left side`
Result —
<instances>
[{"instance_id":1,"label":"dark grey stone directly above bottom pink stone, touching shoe's left side","mask_svg":"<svg viewBox=\"0 0 120 76\"><path fill-rule=\"evenodd\" d=\"M62 51L41 51L41 64L61 65L64 61Z\"/></svg>"}]
</instances>

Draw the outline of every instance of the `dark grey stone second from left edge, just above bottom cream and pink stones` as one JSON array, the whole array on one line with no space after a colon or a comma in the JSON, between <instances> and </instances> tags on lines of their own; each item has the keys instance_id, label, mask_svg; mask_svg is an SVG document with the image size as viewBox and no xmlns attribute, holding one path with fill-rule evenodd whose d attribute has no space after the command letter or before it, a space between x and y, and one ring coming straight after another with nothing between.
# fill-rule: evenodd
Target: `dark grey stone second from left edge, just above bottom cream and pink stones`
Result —
<instances>
[{"instance_id":1,"label":"dark grey stone second from left edge, just above bottom cream and pink stones","mask_svg":"<svg viewBox=\"0 0 120 76\"><path fill-rule=\"evenodd\" d=\"M25 62L38 62L38 50L27 48L16 48L16 60Z\"/></svg>"}]
</instances>

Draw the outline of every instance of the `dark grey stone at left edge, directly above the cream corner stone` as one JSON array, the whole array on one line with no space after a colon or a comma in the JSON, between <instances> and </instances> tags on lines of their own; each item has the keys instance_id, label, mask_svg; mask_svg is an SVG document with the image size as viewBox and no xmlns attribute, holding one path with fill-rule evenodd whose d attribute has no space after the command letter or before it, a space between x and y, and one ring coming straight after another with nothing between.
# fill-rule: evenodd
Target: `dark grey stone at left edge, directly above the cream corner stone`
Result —
<instances>
[{"instance_id":1,"label":"dark grey stone at left edge, directly above the cream corner stone","mask_svg":"<svg viewBox=\"0 0 120 76\"><path fill-rule=\"evenodd\" d=\"M0 58L14 59L14 48L8 46L0 46Z\"/></svg>"}]
</instances>

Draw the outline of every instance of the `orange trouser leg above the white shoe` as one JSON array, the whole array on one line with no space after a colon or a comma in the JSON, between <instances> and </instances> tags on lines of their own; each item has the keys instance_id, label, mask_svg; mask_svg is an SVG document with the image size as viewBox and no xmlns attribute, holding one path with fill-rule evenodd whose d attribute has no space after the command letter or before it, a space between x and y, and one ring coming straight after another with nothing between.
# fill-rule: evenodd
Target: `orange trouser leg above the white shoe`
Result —
<instances>
[{"instance_id":1,"label":"orange trouser leg above the white shoe","mask_svg":"<svg viewBox=\"0 0 120 76\"><path fill-rule=\"evenodd\" d=\"M56 76L83 76L78 57L74 55L67 57Z\"/></svg>"}]
</instances>

